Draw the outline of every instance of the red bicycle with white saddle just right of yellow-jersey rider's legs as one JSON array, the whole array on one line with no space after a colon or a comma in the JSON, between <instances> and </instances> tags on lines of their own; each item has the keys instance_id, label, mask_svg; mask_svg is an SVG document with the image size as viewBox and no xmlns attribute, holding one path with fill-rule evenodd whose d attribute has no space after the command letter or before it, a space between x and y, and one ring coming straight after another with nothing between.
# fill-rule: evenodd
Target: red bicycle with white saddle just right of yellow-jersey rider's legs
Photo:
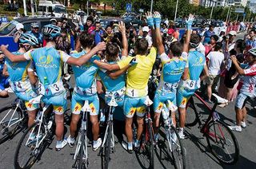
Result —
<instances>
[{"instance_id":1,"label":"red bicycle with white saddle just right of yellow-jersey rider's legs","mask_svg":"<svg viewBox=\"0 0 256 169\"><path fill-rule=\"evenodd\" d=\"M154 130L153 130L153 120L150 117L150 105L153 102L150 100L149 97L146 98L144 103L146 105L146 114L144 120L144 130L142 132L142 141L138 150L135 150L138 154L146 154L150 160L150 167L154 168ZM135 132L135 130L134 130ZM136 135L134 135L136 136Z\"/></svg>"}]
</instances>

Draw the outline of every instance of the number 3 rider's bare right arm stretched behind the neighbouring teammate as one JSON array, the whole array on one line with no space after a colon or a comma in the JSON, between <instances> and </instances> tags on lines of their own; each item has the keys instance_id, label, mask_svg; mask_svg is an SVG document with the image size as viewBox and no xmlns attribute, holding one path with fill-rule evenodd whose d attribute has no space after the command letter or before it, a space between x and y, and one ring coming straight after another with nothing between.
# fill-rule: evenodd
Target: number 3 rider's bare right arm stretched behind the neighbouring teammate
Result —
<instances>
[{"instance_id":1,"label":"number 3 rider's bare right arm stretched behind the neighbouring teammate","mask_svg":"<svg viewBox=\"0 0 256 169\"><path fill-rule=\"evenodd\" d=\"M66 63L70 65L78 65L78 66L84 65L87 61L90 60L91 57L94 56L94 54L96 54L98 51L105 50L105 49L106 49L105 42L100 42L93 49L91 49L89 53L86 53L85 55L82 55L82 57L78 57L78 58L69 57Z\"/></svg>"}]
</instances>

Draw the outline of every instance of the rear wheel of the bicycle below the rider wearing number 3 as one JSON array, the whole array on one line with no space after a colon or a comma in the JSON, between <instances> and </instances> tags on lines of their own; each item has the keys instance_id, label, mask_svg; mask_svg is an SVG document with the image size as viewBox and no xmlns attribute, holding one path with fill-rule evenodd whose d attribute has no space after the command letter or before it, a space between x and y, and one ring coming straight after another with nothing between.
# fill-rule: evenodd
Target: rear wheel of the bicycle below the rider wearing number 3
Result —
<instances>
[{"instance_id":1,"label":"rear wheel of the bicycle below the rider wearing number 3","mask_svg":"<svg viewBox=\"0 0 256 169\"><path fill-rule=\"evenodd\" d=\"M39 132L39 135L38 135ZM27 128L18 142L18 147L14 155L15 168L30 168L38 159L38 155L42 154L44 147L44 139L46 138L45 127L42 124L34 123ZM38 142L38 147L37 147Z\"/></svg>"}]
</instances>

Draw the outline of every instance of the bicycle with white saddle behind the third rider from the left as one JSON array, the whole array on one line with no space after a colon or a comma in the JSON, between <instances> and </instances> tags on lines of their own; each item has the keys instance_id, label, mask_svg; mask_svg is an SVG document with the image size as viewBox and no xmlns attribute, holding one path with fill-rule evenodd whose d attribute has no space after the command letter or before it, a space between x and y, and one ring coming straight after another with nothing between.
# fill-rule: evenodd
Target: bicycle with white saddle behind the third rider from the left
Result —
<instances>
[{"instance_id":1,"label":"bicycle with white saddle behind the third rider from the left","mask_svg":"<svg viewBox=\"0 0 256 169\"><path fill-rule=\"evenodd\" d=\"M78 144L74 152L73 159L75 160L75 163L73 167L82 169L82 168L88 168L89 165L89 159L88 159L88 149L87 149L87 116L88 113L90 113L91 109L89 106L88 100L85 101L85 104L82 106L82 124L80 131L78 133Z\"/></svg>"}]
</instances>

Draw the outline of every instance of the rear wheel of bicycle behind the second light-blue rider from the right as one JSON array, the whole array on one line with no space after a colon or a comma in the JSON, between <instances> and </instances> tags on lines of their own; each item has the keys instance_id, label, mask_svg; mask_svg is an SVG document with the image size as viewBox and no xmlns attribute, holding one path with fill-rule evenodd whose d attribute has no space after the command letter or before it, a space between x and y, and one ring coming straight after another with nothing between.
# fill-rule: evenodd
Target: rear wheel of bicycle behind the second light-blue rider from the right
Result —
<instances>
[{"instance_id":1,"label":"rear wheel of bicycle behind the second light-blue rider from the right","mask_svg":"<svg viewBox=\"0 0 256 169\"><path fill-rule=\"evenodd\" d=\"M170 157L173 159L174 167L176 169L186 168L185 149L182 145L182 140L178 136L178 132L174 126L170 126L168 142Z\"/></svg>"}]
</instances>

